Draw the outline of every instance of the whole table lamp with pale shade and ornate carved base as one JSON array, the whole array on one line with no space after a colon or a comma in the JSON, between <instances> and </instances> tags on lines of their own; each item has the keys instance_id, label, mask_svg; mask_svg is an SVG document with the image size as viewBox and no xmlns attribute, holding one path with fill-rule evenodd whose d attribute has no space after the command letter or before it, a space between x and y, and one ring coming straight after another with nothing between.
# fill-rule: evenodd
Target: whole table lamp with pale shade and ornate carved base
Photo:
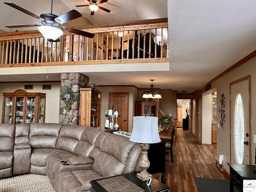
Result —
<instances>
[{"instance_id":1,"label":"whole table lamp with pale shade and ornate carved base","mask_svg":"<svg viewBox=\"0 0 256 192\"><path fill-rule=\"evenodd\" d=\"M141 144L141 158L139 166L142 171L137 173L137 177L143 181L148 180L149 177L152 177L152 175L147 172L147 169L150 166L150 162L148 160L149 143L159 143L161 141L158 133L158 117L133 117L133 128L130 141Z\"/></svg>"}]
</instances>

